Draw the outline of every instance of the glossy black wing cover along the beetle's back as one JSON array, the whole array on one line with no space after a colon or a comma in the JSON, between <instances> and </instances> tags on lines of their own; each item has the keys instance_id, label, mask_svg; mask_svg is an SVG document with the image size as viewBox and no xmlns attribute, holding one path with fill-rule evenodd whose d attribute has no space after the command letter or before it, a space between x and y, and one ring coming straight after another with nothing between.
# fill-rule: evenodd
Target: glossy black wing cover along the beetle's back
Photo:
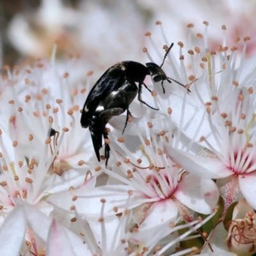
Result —
<instances>
[{"instance_id":1,"label":"glossy black wing cover along the beetle's back","mask_svg":"<svg viewBox=\"0 0 256 256\"><path fill-rule=\"evenodd\" d=\"M118 90L125 83L125 74L121 64L116 64L109 68L94 84L92 90L84 103L81 115L82 127L88 127L90 118L99 103L104 100L109 93Z\"/></svg>"}]
</instances>

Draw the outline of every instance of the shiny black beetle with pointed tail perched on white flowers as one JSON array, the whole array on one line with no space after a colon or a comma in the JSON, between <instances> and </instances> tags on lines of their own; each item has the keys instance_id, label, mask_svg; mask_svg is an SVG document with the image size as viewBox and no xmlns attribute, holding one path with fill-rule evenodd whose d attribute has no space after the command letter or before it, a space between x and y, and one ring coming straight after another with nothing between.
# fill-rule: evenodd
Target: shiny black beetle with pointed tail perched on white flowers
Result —
<instances>
[{"instance_id":1,"label":"shiny black beetle with pointed tail perched on white flowers","mask_svg":"<svg viewBox=\"0 0 256 256\"><path fill-rule=\"evenodd\" d=\"M172 46L173 44L166 51L163 63ZM155 82L162 81L163 93L165 93L163 81L167 80L169 83L175 81L163 72L161 68L163 63L159 67L156 63L150 62L146 63L145 67L136 61L122 61L110 67L93 86L82 109L81 126L83 128L89 127L98 161L100 161L99 150L102 148L102 135L105 140L108 139L108 132L106 132L105 127L113 116L121 115L127 110L125 130L129 115L131 116L129 105L137 93L138 100L152 108L141 99L141 85L143 84L147 88L146 84L143 83L145 77L150 75ZM180 85L184 86L183 84ZM148 88L147 90L150 91ZM106 165L108 164L109 151L109 145L105 143Z\"/></svg>"}]
</instances>

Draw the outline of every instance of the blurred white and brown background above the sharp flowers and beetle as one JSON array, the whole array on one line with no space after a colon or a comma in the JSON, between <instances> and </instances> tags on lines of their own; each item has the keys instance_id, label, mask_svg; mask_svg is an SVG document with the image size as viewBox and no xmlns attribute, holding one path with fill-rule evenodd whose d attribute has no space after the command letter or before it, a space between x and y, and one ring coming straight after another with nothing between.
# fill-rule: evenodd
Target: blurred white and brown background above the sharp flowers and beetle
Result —
<instances>
[{"instance_id":1,"label":"blurred white and brown background above the sharp flowers and beetle","mask_svg":"<svg viewBox=\"0 0 256 256\"><path fill-rule=\"evenodd\" d=\"M164 44L157 20L163 22L168 42L175 43L173 52L179 49L177 42L186 42L188 23L204 33L207 20L213 48L221 44L225 24L227 45L249 35L247 54L252 55L255 19L253 0L0 0L3 64L50 56L56 40L59 58L81 54L91 67L105 70L117 61L147 61L142 49L152 46L145 32L152 32L159 50Z\"/></svg>"}]
</instances>

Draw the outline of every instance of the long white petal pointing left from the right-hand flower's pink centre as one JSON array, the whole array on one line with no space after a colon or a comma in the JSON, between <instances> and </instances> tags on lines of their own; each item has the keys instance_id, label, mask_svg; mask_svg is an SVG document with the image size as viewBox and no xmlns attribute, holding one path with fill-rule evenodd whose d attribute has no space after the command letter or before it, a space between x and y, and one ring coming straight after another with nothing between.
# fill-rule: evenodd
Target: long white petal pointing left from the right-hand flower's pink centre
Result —
<instances>
[{"instance_id":1,"label":"long white petal pointing left from the right-hand flower's pink centre","mask_svg":"<svg viewBox=\"0 0 256 256\"><path fill-rule=\"evenodd\" d=\"M232 175L232 172L223 164L220 159L210 159L200 156L193 156L176 148L164 145L164 150L174 163L180 164L187 172L191 172L205 179L219 179Z\"/></svg>"}]
</instances>

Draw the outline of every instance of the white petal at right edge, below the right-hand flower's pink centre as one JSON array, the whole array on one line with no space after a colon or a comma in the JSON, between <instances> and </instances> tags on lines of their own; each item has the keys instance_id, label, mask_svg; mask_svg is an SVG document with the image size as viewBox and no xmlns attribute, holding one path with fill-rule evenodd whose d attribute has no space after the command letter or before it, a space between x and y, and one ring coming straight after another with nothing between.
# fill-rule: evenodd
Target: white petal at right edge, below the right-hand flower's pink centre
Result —
<instances>
[{"instance_id":1,"label":"white petal at right edge, below the right-hand flower's pink centre","mask_svg":"<svg viewBox=\"0 0 256 256\"><path fill-rule=\"evenodd\" d=\"M244 198L252 205L253 209L256 209L256 172L239 175L238 179Z\"/></svg>"}]
</instances>

